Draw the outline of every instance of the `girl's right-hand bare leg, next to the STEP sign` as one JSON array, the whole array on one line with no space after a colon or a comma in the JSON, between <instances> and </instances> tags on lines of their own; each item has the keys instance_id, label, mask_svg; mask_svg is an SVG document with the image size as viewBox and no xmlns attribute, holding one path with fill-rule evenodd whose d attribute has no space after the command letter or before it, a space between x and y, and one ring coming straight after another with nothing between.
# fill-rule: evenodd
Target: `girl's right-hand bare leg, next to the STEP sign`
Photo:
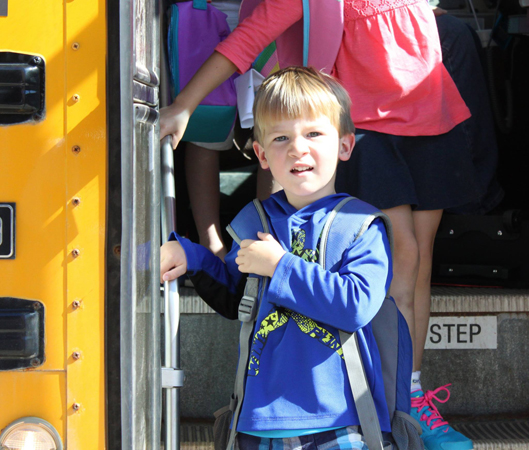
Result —
<instances>
[{"instance_id":1,"label":"girl's right-hand bare leg, next to the STEP sign","mask_svg":"<svg viewBox=\"0 0 529 450\"><path fill-rule=\"evenodd\" d=\"M413 350L414 370L420 370L424 345L428 334L431 303L431 278L433 244L439 222L443 215L442 210L413 211L415 236L419 245L419 274L415 285L415 347Z\"/></svg>"}]
</instances>

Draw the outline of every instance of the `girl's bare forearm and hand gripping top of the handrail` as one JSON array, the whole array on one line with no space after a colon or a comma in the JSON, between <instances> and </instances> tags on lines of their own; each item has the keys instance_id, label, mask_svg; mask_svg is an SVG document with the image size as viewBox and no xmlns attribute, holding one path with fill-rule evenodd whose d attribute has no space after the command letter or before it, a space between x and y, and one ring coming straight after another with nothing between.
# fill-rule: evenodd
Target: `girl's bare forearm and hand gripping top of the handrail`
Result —
<instances>
[{"instance_id":1,"label":"girl's bare forearm and hand gripping top of the handrail","mask_svg":"<svg viewBox=\"0 0 529 450\"><path fill-rule=\"evenodd\" d=\"M160 139L171 135L173 148L176 148L196 107L236 70L237 66L228 58L213 52L174 102L160 110Z\"/></svg>"}]
</instances>

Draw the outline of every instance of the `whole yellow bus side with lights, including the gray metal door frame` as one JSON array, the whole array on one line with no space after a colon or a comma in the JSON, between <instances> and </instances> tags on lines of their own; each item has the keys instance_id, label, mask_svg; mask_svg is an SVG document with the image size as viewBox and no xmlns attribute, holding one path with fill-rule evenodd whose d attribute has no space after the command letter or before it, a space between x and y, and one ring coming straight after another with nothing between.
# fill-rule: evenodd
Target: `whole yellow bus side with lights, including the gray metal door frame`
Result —
<instances>
[{"instance_id":1,"label":"whole yellow bus side with lights, including the gray metal door frame","mask_svg":"<svg viewBox=\"0 0 529 450\"><path fill-rule=\"evenodd\" d=\"M2 449L160 446L158 11L0 0Z\"/></svg>"}]
</instances>

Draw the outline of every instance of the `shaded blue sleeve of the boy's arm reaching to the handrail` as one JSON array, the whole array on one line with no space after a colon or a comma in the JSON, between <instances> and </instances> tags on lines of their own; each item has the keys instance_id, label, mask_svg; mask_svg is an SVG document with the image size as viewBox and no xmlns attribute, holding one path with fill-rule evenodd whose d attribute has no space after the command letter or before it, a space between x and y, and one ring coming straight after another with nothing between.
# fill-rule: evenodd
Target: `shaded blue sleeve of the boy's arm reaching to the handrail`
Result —
<instances>
[{"instance_id":1,"label":"shaded blue sleeve of the boy's arm reaching to the handrail","mask_svg":"<svg viewBox=\"0 0 529 450\"><path fill-rule=\"evenodd\" d=\"M238 244L234 242L224 263L207 248L177 233L172 233L169 240L177 240L182 245L187 258L186 274L202 300L227 319L237 319L247 278L235 264Z\"/></svg>"}]
</instances>

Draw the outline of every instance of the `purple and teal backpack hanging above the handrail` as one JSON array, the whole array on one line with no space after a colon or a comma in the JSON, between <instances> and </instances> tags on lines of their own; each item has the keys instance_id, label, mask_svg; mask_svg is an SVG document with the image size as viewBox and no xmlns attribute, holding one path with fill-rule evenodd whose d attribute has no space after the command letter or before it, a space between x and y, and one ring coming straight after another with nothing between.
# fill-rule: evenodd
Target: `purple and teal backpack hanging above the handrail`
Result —
<instances>
[{"instance_id":1,"label":"purple and teal backpack hanging above the handrail","mask_svg":"<svg viewBox=\"0 0 529 450\"><path fill-rule=\"evenodd\" d=\"M171 6L168 50L174 96L189 83L217 44L228 36L226 15L206 0L193 0ZM235 122L237 96L230 77L197 107L184 133L183 141L224 142Z\"/></svg>"}]
</instances>

